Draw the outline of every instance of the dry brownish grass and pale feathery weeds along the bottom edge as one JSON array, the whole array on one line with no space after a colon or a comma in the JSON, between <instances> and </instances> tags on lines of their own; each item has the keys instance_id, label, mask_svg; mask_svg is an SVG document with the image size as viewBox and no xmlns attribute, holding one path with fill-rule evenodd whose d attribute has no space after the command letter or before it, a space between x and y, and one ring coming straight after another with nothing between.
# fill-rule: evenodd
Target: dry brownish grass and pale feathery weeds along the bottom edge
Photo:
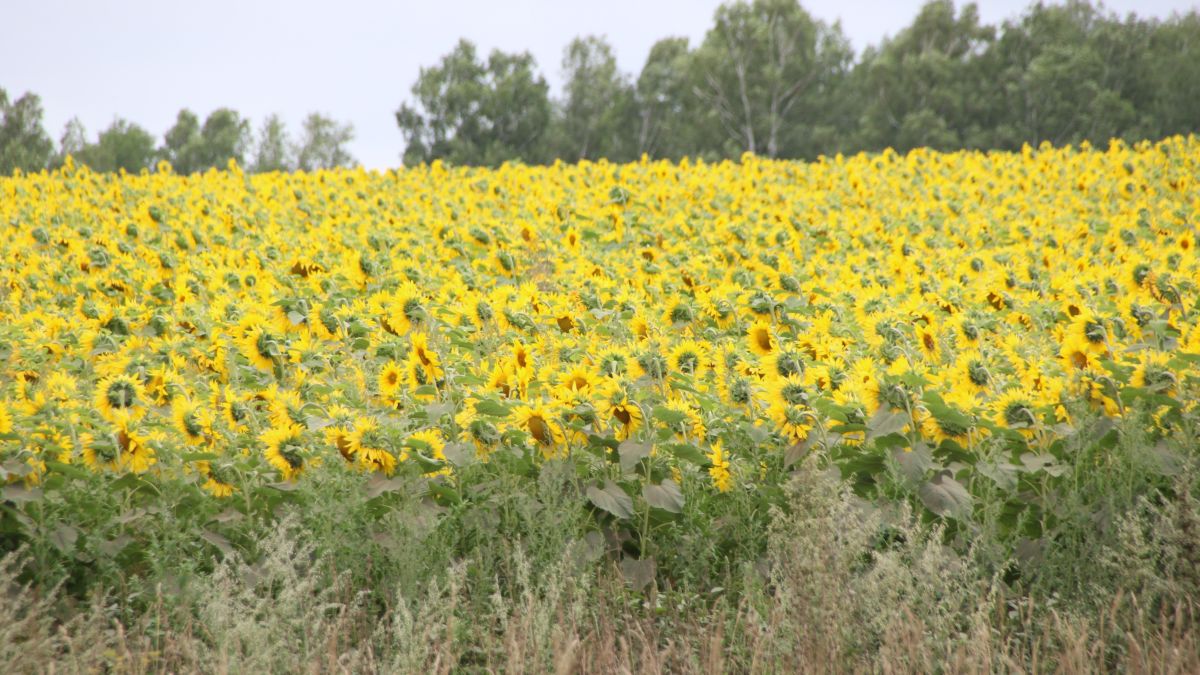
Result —
<instances>
[{"instance_id":1,"label":"dry brownish grass and pale feathery weeds along the bottom edge","mask_svg":"<svg viewBox=\"0 0 1200 675\"><path fill-rule=\"evenodd\" d=\"M779 520L767 571L745 571L736 603L631 593L614 568L578 571L571 551L534 569L516 549L515 573L488 597L472 597L461 563L379 615L365 601L382 590L350 589L286 521L260 560L221 565L196 602L163 597L122 623L103 598L76 608L19 585L11 556L0 662L130 674L1200 671L1194 596L1180 591L1192 586L1159 579L1154 610L1133 591L1096 610L1015 596L907 513L859 503L816 472L794 494L798 515ZM1156 526L1157 544L1128 520L1128 550L1102 565L1124 561L1136 580L1130 561L1164 542L1174 552L1159 558L1186 561L1188 506L1162 510L1182 533Z\"/></svg>"}]
</instances>

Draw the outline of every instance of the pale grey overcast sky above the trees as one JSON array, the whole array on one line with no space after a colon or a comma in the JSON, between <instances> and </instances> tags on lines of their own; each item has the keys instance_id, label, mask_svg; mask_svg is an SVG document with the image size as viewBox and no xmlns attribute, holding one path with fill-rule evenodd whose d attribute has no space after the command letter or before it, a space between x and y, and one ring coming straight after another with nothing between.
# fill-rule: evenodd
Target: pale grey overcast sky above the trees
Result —
<instances>
[{"instance_id":1,"label":"pale grey overcast sky above the trees","mask_svg":"<svg viewBox=\"0 0 1200 675\"><path fill-rule=\"evenodd\" d=\"M661 37L696 44L720 0L5 0L0 88L11 98L42 97L55 139L72 117L95 138L115 117L157 137L180 108L203 119L227 106L256 131L280 113L295 132L310 112L354 124L352 154L365 166L400 163L394 112L422 65L460 37L482 53L529 50L552 90L563 47L602 35L620 67L636 74ZM841 20L862 50L907 25L920 0L803 0L827 22ZM960 2L961 5L961 2ZM1025 0L979 2L986 23L1012 18ZM1166 17L1195 0L1110 0L1109 8Z\"/></svg>"}]
</instances>

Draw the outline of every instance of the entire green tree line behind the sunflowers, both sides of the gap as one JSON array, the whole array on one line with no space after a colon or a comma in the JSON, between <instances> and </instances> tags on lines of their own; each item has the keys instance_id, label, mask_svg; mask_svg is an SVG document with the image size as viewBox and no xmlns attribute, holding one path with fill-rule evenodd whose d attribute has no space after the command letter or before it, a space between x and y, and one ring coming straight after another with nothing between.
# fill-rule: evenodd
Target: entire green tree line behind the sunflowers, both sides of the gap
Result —
<instances>
[{"instance_id":1,"label":"entire green tree line behind the sunflowers, both sides of the gap","mask_svg":"<svg viewBox=\"0 0 1200 675\"><path fill-rule=\"evenodd\" d=\"M721 5L700 44L667 37L636 77L602 37L566 46L552 97L528 53L481 55L469 41L428 67L395 113L404 163L496 166L642 155L677 160L754 153L812 159L835 153L1014 150L1200 131L1200 13L1120 17L1087 0L1031 5L1001 25L974 4L931 0L895 36L856 56L839 23L797 0ZM0 89L0 173L61 165L140 171L167 160L180 173L352 166L349 124L311 114L292 139L277 115L257 133L229 108L202 124L180 110L162 142L124 119L89 141L78 120L59 143L41 101Z\"/></svg>"}]
</instances>

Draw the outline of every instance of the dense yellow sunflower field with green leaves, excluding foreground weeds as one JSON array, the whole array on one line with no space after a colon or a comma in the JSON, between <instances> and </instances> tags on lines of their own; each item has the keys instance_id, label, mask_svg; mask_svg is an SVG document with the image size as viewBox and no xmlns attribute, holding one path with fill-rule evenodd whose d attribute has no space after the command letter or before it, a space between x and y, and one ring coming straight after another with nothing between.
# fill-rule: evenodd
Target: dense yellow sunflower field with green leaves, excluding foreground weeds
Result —
<instances>
[{"instance_id":1,"label":"dense yellow sunflower field with green leaves, excluding foreground weeds","mask_svg":"<svg viewBox=\"0 0 1200 675\"><path fill-rule=\"evenodd\" d=\"M233 555L306 484L437 519L556 471L666 587L664 542L734 555L713 521L822 470L1027 551L1120 443L1168 491L1190 461L1198 223L1180 137L0 178L0 542L146 568L162 509Z\"/></svg>"}]
</instances>

